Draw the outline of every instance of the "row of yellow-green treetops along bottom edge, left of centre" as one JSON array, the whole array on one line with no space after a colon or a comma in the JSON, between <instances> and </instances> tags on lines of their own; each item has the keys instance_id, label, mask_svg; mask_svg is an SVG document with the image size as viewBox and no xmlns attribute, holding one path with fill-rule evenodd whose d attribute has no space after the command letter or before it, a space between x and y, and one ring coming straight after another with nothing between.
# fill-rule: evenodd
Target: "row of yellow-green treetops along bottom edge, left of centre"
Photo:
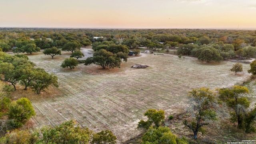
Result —
<instances>
[{"instance_id":1,"label":"row of yellow-green treetops along bottom edge, left of centre","mask_svg":"<svg viewBox=\"0 0 256 144\"><path fill-rule=\"evenodd\" d=\"M13 130L0 138L0 144L116 144L116 136L110 130L93 133L80 127L76 120L59 126L43 126L38 131Z\"/></svg>"}]
</instances>

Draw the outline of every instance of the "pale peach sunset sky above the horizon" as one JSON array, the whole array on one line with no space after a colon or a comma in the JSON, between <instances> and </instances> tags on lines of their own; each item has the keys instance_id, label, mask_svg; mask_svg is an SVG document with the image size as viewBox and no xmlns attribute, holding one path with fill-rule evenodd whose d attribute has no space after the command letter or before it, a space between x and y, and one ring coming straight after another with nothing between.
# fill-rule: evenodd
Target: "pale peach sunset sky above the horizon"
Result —
<instances>
[{"instance_id":1,"label":"pale peach sunset sky above the horizon","mask_svg":"<svg viewBox=\"0 0 256 144\"><path fill-rule=\"evenodd\" d=\"M256 0L0 0L0 27L256 28Z\"/></svg>"}]
</instances>

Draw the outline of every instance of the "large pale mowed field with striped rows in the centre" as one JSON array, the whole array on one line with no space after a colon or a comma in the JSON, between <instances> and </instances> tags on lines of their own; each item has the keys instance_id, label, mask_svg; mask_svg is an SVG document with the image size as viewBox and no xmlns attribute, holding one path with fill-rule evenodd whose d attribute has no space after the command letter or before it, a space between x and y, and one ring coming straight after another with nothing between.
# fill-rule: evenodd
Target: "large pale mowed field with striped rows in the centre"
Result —
<instances>
[{"instance_id":1,"label":"large pale mowed field with striped rows in the centre","mask_svg":"<svg viewBox=\"0 0 256 144\"><path fill-rule=\"evenodd\" d=\"M93 51L81 49L88 56ZM123 143L140 134L137 124L149 108L162 109L166 116L182 112L188 106L186 95L194 88L222 88L242 83L250 76L230 71L234 62L203 63L196 58L146 54L132 56L121 68L103 70L100 66L79 64L74 70L60 65L71 52L62 56L27 55L37 67L58 76L58 88L31 98L36 111L34 125L56 125L75 119L94 132L112 130ZM83 59L86 59L83 58ZM134 64L145 69L130 68Z\"/></svg>"}]
</instances>

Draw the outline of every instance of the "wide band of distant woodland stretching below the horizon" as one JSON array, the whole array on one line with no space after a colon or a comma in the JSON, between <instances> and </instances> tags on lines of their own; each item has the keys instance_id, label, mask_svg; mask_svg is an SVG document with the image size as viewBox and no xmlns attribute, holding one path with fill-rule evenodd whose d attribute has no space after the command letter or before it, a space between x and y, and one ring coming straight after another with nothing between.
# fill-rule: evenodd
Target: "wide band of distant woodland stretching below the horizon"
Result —
<instances>
[{"instance_id":1,"label":"wide band of distant woodland stretching below the horizon","mask_svg":"<svg viewBox=\"0 0 256 144\"><path fill-rule=\"evenodd\" d=\"M95 36L102 36L94 38ZM28 45L29 44L29 45ZM43 29L1 28L0 50L15 53L38 52L56 47L74 52L93 44L94 50L122 44L129 49L145 46L151 50L176 48L177 54L195 56L200 61L216 61L256 56L256 31L199 29ZM106 49L107 50L107 49ZM107 50L108 51L108 50ZM116 54L113 52L113 54Z\"/></svg>"}]
</instances>

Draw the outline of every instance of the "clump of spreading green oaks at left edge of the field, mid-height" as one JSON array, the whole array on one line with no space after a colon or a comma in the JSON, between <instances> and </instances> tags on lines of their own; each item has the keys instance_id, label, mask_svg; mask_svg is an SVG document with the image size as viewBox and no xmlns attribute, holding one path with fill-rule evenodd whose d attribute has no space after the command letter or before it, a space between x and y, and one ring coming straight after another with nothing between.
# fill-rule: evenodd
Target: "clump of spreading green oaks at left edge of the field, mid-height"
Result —
<instances>
[{"instance_id":1,"label":"clump of spreading green oaks at left edge of the field, mid-height","mask_svg":"<svg viewBox=\"0 0 256 144\"><path fill-rule=\"evenodd\" d=\"M41 90L48 88L50 84L58 87L58 78L54 74L48 74L42 68L34 68L35 64L28 61L25 55L16 54L11 56L5 52L0 52L0 75L1 80L10 82L16 90L16 84L25 86L25 90L30 87L37 94Z\"/></svg>"}]
</instances>

